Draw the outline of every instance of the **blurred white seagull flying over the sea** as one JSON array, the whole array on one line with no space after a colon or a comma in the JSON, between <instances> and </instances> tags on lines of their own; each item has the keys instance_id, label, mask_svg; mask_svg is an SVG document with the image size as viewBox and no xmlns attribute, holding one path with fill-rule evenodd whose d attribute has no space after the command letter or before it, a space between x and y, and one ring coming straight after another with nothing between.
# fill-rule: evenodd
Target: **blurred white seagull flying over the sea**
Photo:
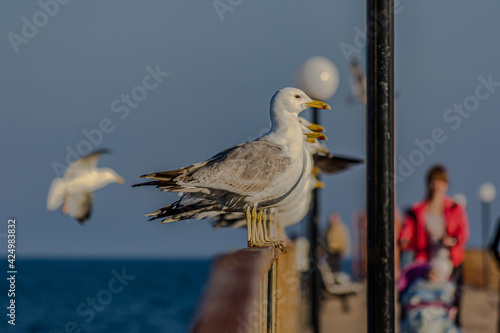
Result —
<instances>
[{"instance_id":1,"label":"blurred white seagull flying over the sea","mask_svg":"<svg viewBox=\"0 0 500 333\"><path fill-rule=\"evenodd\" d=\"M122 177L110 168L97 168L99 157L107 150L95 151L71 163L63 178L50 185L47 209L62 206L62 212L84 224L92 211L92 192L110 183L123 184Z\"/></svg>"}]
</instances>

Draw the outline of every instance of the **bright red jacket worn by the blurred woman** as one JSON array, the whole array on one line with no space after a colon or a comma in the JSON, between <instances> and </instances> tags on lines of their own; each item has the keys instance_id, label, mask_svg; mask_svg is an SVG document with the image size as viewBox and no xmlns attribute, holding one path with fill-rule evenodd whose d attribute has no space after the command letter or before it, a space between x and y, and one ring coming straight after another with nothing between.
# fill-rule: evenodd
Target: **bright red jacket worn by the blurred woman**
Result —
<instances>
[{"instance_id":1,"label":"bright red jacket worn by the blurred woman","mask_svg":"<svg viewBox=\"0 0 500 333\"><path fill-rule=\"evenodd\" d=\"M428 204L428 201L418 202L410 209L398 237L401 250L415 251L415 260L419 261L429 259L427 248L429 241L425 230L425 215ZM457 243L450 248L450 259L453 266L457 267L465 257L465 244L469 239L469 219L465 209L460 204L446 197L444 200L444 221L446 235L457 240Z\"/></svg>"}]
</instances>

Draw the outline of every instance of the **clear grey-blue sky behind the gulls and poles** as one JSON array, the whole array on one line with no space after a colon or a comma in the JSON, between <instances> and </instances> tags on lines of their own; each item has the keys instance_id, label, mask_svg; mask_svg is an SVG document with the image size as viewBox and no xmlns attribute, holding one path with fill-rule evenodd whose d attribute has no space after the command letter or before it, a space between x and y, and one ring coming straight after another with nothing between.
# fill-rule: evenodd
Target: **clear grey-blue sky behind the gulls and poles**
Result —
<instances>
[{"instance_id":1,"label":"clear grey-blue sky behind the gulls and poles","mask_svg":"<svg viewBox=\"0 0 500 333\"><path fill-rule=\"evenodd\" d=\"M333 111L322 114L328 146L364 157L365 111L346 103L341 47L349 45L364 63L362 2L235 1L223 13L211 1L55 3L0 1L0 232L8 218L17 219L20 257L210 256L244 247L244 230L145 222L145 213L176 196L129 185L262 134L271 96L294 86L296 70L311 56L329 58L340 75L327 101ZM444 163L450 194L468 198L470 245L477 246L477 189L485 181L500 188L500 3L396 4L396 156L404 180L398 206L420 200L426 170ZM163 74L144 83L151 71ZM137 105L122 100L131 93ZM94 133L94 143L84 133ZM96 192L92 219L82 227L47 211L45 202L53 166L65 164L69 150L88 147L111 149L100 165L127 183ZM329 211L350 222L364 208L364 166L324 180L323 222Z\"/></svg>"}]
</instances>

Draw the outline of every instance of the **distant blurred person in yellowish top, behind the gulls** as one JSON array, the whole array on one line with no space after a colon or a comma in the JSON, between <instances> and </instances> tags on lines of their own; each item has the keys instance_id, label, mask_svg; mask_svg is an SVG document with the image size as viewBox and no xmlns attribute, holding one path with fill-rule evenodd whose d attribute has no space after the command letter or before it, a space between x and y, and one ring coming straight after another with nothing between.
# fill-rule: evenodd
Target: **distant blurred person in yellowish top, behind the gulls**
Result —
<instances>
[{"instance_id":1,"label":"distant blurred person in yellowish top, behind the gulls","mask_svg":"<svg viewBox=\"0 0 500 333\"><path fill-rule=\"evenodd\" d=\"M328 250L328 264L333 273L341 271L342 258L348 254L350 235L346 225L338 213L331 213L328 217L326 229L326 247Z\"/></svg>"}]
</instances>

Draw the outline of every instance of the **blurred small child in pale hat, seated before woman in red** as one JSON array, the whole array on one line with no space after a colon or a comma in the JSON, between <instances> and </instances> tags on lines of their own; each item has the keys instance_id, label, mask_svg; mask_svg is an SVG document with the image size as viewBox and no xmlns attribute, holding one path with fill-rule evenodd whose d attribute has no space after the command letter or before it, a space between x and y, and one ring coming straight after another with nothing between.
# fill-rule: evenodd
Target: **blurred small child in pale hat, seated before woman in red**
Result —
<instances>
[{"instance_id":1,"label":"blurred small child in pale hat, seated before woman in red","mask_svg":"<svg viewBox=\"0 0 500 333\"><path fill-rule=\"evenodd\" d=\"M457 312L455 284L450 281L453 265L444 256L432 259L429 266L426 276L415 279L402 293L402 333L458 332L453 323Z\"/></svg>"}]
</instances>

